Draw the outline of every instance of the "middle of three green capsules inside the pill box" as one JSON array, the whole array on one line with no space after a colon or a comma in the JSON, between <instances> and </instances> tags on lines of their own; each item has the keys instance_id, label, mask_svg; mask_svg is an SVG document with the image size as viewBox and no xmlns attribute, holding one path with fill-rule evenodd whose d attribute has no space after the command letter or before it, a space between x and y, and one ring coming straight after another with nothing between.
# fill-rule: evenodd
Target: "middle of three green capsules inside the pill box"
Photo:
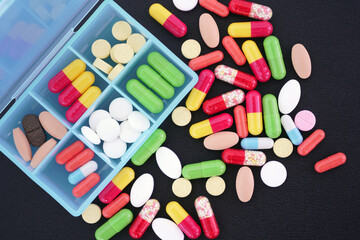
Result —
<instances>
[{"instance_id":1,"label":"middle of three green capsules inside the pill box","mask_svg":"<svg viewBox=\"0 0 360 240\"><path fill-rule=\"evenodd\" d=\"M136 75L160 97L170 99L174 96L174 88L148 65L138 67Z\"/></svg>"}]
</instances>

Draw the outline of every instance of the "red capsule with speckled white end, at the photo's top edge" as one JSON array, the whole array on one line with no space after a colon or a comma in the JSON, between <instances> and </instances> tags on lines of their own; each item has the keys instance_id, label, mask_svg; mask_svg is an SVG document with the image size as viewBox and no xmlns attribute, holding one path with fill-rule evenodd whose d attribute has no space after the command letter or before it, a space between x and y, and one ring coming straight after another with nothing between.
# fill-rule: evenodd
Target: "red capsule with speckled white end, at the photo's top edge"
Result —
<instances>
[{"instance_id":1,"label":"red capsule with speckled white end, at the photo's top edge","mask_svg":"<svg viewBox=\"0 0 360 240\"><path fill-rule=\"evenodd\" d=\"M242 16L268 21L272 17L271 8L244 0L231 0L229 10Z\"/></svg>"}]
</instances>

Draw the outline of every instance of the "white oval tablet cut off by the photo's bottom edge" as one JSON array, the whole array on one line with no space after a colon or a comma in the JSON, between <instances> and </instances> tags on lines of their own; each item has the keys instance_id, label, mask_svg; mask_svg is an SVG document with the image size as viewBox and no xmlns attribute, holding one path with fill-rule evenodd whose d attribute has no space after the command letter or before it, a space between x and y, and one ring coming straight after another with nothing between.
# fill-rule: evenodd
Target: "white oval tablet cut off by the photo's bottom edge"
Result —
<instances>
[{"instance_id":1,"label":"white oval tablet cut off by the photo's bottom edge","mask_svg":"<svg viewBox=\"0 0 360 240\"><path fill-rule=\"evenodd\" d=\"M171 220L166 218L156 218L151 227L161 240L184 240L184 233Z\"/></svg>"}]
</instances>

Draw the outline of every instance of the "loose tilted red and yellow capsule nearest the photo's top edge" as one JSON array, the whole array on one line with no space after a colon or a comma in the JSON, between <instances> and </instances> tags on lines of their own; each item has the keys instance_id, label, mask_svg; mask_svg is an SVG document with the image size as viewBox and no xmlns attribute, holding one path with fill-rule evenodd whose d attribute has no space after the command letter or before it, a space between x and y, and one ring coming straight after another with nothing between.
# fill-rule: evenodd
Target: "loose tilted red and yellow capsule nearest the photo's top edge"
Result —
<instances>
[{"instance_id":1,"label":"loose tilted red and yellow capsule nearest the photo's top edge","mask_svg":"<svg viewBox=\"0 0 360 240\"><path fill-rule=\"evenodd\" d=\"M180 38L185 36L187 32L186 24L178 19L174 14L169 12L169 10L161 4L154 3L151 5L149 8L149 14L175 37Z\"/></svg>"}]
</instances>

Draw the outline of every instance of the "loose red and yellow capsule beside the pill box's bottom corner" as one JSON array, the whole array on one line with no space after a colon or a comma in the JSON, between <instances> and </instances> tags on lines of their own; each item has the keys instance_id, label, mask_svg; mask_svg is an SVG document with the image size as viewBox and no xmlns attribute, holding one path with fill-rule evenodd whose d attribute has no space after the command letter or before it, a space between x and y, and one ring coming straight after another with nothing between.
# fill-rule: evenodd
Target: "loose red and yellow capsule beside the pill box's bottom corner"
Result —
<instances>
[{"instance_id":1,"label":"loose red and yellow capsule beside the pill box's bottom corner","mask_svg":"<svg viewBox=\"0 0 360 240\"><path fill-rule=\"evenodd\" d=\"M110 203L135 178L135 172L124 167L99 194L102 203Z\"/></svg>"}]
</instances>

